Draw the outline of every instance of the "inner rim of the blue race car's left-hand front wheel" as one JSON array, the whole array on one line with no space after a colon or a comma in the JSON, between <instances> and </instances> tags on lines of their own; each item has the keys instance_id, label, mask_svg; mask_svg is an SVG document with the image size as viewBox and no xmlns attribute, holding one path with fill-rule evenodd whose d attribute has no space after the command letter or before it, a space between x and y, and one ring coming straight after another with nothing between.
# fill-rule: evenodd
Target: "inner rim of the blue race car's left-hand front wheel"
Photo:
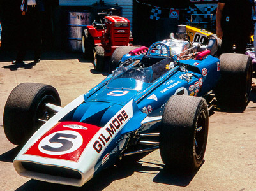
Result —
<instances>
[{"instance_id":1,"label":"inner rim of the blue race car's left-hand front wheel","mask_svg":"<svg viewBox=\"0 0 256 191\"><path fill-rule=\"evenodd\" d=\"M45 105L47 103L57 104L57 101L52 95L45 95L40 103L38 103L36 108L36 113L34 115L34 125L32 131L35 132L41 125L43 125L46 121L48 121L53 115L54 112L49 110Z\"/></svg>"}]
</instances>

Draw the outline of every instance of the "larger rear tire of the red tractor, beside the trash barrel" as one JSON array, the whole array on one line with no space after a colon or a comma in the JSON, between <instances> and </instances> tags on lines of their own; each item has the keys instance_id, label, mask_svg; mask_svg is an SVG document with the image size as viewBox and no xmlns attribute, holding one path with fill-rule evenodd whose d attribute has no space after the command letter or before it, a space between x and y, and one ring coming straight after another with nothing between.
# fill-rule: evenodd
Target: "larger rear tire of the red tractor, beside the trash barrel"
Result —
<instances>
[{"instance_id":1,"label":"larger rear tire of the red tractor, beside the trash barrel","mask_svg":"<svg viewBox=\"0 0 256 191\"><path fill-rule=\"evenodd\" d=\"M84 29L82 32L82 53L85 59L93 58L94 46L93 36L91 36L88 29Z\"/></svg>"}]
</instances>

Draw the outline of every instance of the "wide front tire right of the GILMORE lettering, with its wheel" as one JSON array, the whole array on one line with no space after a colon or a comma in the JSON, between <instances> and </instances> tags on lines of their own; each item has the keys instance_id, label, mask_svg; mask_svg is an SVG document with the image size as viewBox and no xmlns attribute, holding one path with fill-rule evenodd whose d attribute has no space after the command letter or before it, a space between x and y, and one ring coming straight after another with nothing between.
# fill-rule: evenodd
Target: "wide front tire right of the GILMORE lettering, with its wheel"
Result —
<instances>
[{"instance_id":1,"label":"wide front tire right of the GILMORE lettering, with its wheel","mask_svg":"<svg viewBox=\"0 0 256 191\"><path fill-rule=\"evenodd\" d=\"M163 110L160 155L172 172L193 173L204 159L209 112L202 97L173 95Z\"/></svg>"}]
</instances>

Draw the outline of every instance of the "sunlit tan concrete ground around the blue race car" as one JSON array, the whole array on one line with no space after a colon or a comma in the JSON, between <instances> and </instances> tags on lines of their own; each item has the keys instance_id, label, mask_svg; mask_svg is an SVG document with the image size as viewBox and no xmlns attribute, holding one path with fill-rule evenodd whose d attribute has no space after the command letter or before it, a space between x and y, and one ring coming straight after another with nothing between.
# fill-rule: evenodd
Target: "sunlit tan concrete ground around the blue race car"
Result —
<instances>
[{"instance_id":1,"label":"sunlit tan concrete ground around the blue race car","mask_svg":"<svg viewBox=\"0 0 256 191\"><path fill-rule=\"evenodd\" d=\"M0 53L0 190L256 190L254 92L243 113L214 111L209 118L204 163L191 176L165 171L158 150L138 162L126 161L122 166L110 167L83 187L19 176L12 164L19 148L6 139L3 131L4 104L11 90L22 82L53 85L65 106L102 81L107 73L96 73L80 53L45 52L40 63L33 66L26 61L26 67L13 66L13 58L13 53Z\"/></svg>"}]
</instances>

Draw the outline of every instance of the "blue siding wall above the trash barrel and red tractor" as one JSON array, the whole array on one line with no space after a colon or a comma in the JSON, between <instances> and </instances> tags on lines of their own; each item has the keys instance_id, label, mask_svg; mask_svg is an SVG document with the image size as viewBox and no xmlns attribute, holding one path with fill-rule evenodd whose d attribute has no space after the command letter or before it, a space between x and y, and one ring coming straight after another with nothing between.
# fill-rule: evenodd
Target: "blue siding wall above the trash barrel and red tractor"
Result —
<instances>
[{"instance_id":1,"label":"blue siding wall above the trash barrel and red tractor","mask_svg":"<svg viewBox=\"0 0 256 191\"><path fill-rule=\"evenodd\" d=\"M59 0L60 6L93 6L95 0ZM123 8L123 17L128 18L131 22L132 29L132 15L133 15L133 0L105 0L105 4L116 4ZM99 3L99 1L98 1Z\"/></svg>"}]
</instances>

